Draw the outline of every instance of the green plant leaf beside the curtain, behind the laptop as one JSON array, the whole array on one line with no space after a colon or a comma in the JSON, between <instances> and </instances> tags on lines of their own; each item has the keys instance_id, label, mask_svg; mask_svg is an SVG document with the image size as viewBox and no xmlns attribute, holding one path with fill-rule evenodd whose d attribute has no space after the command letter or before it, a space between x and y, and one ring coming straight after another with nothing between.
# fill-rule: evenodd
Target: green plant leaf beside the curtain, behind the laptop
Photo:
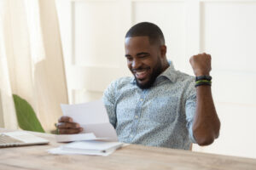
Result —
<instances>
[{"instance_id":1,"label":"green plant leaf beside the curtain, behind the laptop","mask_svg":"<svg viewBox=\"0 0 256 170\"><path fill-rule=\"evenodd\" d=\"M44 133L44 128L38 121L35 111L32 106L25 100L20 98L18 95L13 94L15 101L16 116L19 126L23 130L34 131Z\"/></svg>"}]
</instances>

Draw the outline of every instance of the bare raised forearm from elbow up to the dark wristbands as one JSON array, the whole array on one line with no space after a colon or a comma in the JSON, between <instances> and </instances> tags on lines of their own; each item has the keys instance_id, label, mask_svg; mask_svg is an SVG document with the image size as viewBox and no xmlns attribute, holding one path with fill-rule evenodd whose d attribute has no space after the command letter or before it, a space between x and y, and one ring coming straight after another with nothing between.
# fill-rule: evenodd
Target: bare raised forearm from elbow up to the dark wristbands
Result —
<instances>
[{"instance_id":1,"label":"bare raised forearm from elbow up to the dark wristbands","mask_svg":"<svg viewBox=\"0 0 256 170\"><path fill-rule=\"evenodd\" d=\"M200 145L212 144L218 138L220 122L212 100L210 86L196 88L196 111L193 122L195 140Z\"/></svg>"}]
</instances>

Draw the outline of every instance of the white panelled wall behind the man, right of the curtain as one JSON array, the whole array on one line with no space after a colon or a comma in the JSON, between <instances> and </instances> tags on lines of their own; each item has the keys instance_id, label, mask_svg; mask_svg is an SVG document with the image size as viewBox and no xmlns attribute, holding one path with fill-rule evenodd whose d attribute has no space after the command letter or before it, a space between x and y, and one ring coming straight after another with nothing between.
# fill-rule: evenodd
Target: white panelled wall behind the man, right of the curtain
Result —
<instances>
[{"instance_id":1,"label":"white panelled wall behind the man, right of the curtain","mask_svg":"<svg viewBox=\"0 0 256 170\"><path fill-rule=\"evenodd\" d=\"M256 0L57 0L70 103L100 99L108 83L130 75L125 31L154 22L167 57L193 74L189 57L212 54L219 139L193 150L256 158Z\"/></svg>"}]
</instances>

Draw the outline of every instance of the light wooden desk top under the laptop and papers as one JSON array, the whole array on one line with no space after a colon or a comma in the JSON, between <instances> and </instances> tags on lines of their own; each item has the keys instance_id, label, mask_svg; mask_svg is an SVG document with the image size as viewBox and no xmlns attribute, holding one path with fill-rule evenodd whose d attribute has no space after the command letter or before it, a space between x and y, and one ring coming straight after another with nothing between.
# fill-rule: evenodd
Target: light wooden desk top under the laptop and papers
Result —
<instances>
[{"instance_id":1,"label":"light wooden desk top under the laptop and papers","mask_svg":"<svg viewBox=\"0 0 256 170\"><path fill-rule=\"evenodd\" d=\"M0 132L6 132L1 129ZM0 149L0 169L177 169L177 170L256 170L256 159L197 153L188 150L131 144L110 156L57 156L46 150L57 147L52 134L35 133L49 139L48 145Z\"/></svg>"}]
</instances>

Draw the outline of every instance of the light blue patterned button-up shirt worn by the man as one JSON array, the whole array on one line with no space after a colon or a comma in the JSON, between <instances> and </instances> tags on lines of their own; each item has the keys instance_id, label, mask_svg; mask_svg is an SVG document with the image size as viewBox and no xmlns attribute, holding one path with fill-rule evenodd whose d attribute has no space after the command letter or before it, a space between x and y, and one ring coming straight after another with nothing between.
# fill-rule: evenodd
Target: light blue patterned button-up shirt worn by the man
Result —
<instances>
[{"instance_id":1,"label":"light blue patterned button-up shirt worn by the man","mask_svg":"<svg viewBox=\"0 0 256 170\"><path fill-rule=\"evenodd\" d=\"M121 142L184 150L195 143L195 77L172 64L149 89L138 88L134 77L119 78L108 86L103 101Z\"/></svg>"}]
</instances>

